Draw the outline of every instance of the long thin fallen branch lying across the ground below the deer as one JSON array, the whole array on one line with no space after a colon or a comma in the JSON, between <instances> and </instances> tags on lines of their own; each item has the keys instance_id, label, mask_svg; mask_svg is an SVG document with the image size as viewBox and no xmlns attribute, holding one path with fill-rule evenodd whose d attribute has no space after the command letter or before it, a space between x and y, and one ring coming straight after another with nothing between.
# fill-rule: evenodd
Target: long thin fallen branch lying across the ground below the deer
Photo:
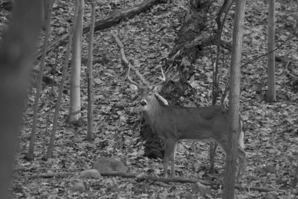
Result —
<instances>
[{"instance_id":1,"label":"long thin fallen branch lying across the ground below the deer","mask_svg":"<svg viewBox=\"0 0 298 199\"><path fill-rule=\"evenodd\" d=\"M79 174L79 172L53 172L53 173L44 173L44 174L35 174L31 176L15 176L15 178L26 178L28 180L34 178L53 178L53 177L67 177L70 175ZM123 177L123 178L135 178L136 181L153 181L153 182L165 182L165 183L201 183L206 186L212 187L223 187L223 184L219 182L211 182L211 181L203 181L197 179L188 179L188 178L159 178L156 176L147 176L147 175L140 175L136 173L120 173L120 172L100 172L101 176L113 176L113 177ZM258 191L258 192L278 192L278 193L285 193L288 192L287 190L279 190L279 189L272 189L272 188L265 188L265 187L248 187L248 186L241 186L235 185L236 189L245 190L245 191Z\"/></svg>"}]
</instances>

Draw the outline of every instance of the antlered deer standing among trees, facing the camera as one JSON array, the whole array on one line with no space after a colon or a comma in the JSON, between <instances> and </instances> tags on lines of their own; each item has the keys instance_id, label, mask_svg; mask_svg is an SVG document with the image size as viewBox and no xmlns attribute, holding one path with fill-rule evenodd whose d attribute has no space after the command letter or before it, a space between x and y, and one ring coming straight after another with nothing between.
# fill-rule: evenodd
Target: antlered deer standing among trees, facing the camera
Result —
<instances>
[{"instance_id":1,"label":"antlered deer standing among trees, facing the camera","mask_svg":"<svg viewBox=\"0 0 298 199\"><path fill-rule=\"evenodd\" d=\"M157 100L155 96L155 94L161 91L165 83L162 68L162 77L157 77L161 81L153 86L141 87L129 77L129 73L130 66L127 72L127 80L130 82L130 89L139 95L140 109L145 120L150 125L153 133L162 137L164 140L164 178L167 176L169 160L171 160L171 177L175 178L175 154L177 143L180 140L217 142L226 153L229 132L227 108L165 105ZM245 160L245 123L241 117L239 117L239 127L239 146L237 147L239 169L237 183L242 181Z\"/></svg>"}]
</instances>

